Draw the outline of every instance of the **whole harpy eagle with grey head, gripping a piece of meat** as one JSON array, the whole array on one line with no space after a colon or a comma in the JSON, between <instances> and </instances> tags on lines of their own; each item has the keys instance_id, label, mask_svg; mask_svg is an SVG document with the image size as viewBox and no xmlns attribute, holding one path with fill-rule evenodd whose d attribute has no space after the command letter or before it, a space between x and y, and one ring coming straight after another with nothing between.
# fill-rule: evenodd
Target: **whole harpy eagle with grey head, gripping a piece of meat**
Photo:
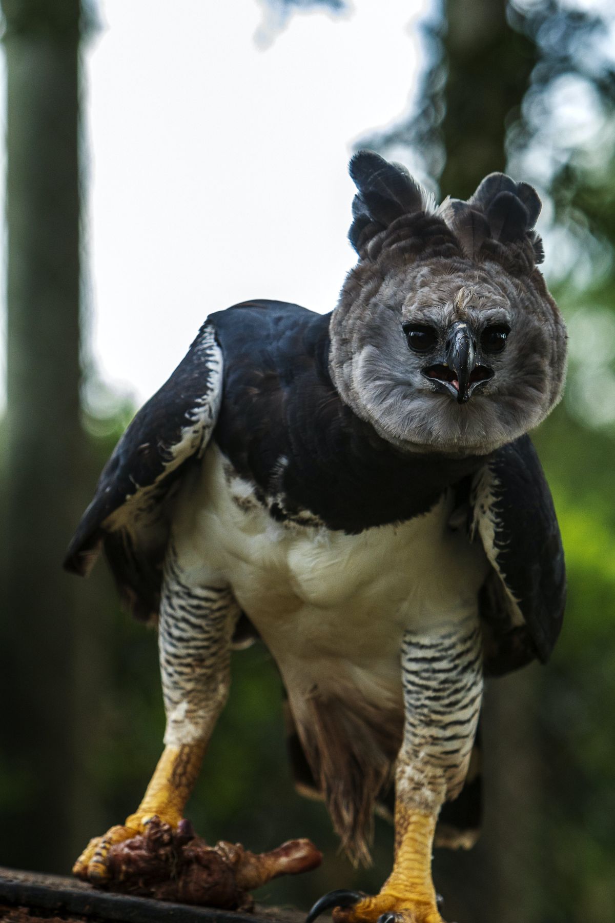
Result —
<instances>
[{"instance_id":1,"label":"whole harpy eagle with grey head, gripping a piece of meat","mask_svg":"<svg viewBox=\"0 0 615 923\"><path fill-rule=\"evenodd\" d=\"M275 301L212 314L101 473L65 566L102 548L124 602L157 618L167 716L143 801L77 875L153 815L178 824L246 621L288 692L293 761L365 857L395 781L381 892L335 892L337 923L442 923L432 845L477 826L468 774L483 676L558 636L562 544L527 437L558 402L566 334L537 269L540 201L503 174L435 208L361 151L359 260L328 315Z\"/></svg>"}]
</instances>

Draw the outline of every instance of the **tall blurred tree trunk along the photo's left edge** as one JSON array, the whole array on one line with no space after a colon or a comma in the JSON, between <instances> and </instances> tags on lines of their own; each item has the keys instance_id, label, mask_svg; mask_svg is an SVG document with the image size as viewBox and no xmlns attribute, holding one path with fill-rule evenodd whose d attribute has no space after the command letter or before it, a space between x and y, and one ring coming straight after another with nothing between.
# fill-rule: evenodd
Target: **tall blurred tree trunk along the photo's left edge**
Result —
<instances>
[{"instance_id":1,"label":"tall blurred tree trunk along the photo's left edge","mask_svg":"<svg viewBox=\"0 0 615 923\"><path fill-rule=\"evenodd\" d=\"M79 0L2 0L6 19L6 593L0 862L66 870L75 767Z\"/></svg>"}]
</instances>

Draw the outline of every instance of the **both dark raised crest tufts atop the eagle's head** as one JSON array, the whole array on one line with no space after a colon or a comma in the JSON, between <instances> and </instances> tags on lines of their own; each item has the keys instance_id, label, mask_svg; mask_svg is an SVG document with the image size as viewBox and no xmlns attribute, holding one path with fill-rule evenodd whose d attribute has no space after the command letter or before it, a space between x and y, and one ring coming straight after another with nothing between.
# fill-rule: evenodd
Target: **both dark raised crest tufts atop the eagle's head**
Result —
<instances>
[{"instance_id":1,"label":"both dark raised crest tufts atop the eagle's head","mask_svg":"<svg viewBox=\"0 0 615 923\"><path fill-rule=\"evenodd\" d=\"M349 239L361 258L377 256L387 243L384 232L398 230L402 218L408 234L415 238L418 233L433 237L435 225L444 225L453 233L460 255L471 259L497 258L500 251L493 244L509 250L513 245L529 245L534 265L544 258L534 230L540 199L527 183L515 183L510 176L493 173L467 201L446 198L434 213L431 197L399 163L389 163L371 150L360 150L350 161L349 173L359 190L352 203L354 220ZM427 215L429 222L424 221ZM415 222L408 221L412 216L416 216ZM396 228L391 229L394 222ZM381 246L371 247L376 238ZM395 234L395 241L399 242L399 234ZM420 253L420 247L413 250Z\"/></svg>"}]
</instances>

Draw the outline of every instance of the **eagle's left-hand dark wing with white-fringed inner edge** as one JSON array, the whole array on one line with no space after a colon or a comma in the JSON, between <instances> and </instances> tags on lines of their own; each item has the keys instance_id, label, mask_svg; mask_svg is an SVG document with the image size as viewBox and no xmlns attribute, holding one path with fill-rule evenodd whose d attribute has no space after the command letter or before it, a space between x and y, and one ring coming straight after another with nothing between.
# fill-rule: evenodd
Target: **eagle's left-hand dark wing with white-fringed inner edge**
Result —
<instances>
[{"instance_id":1,"label":"eagle's left-hand dark wing with white-fringed inner edge","mask_svg":"<svg viewBox=\"0 0 615 923\"><path fill-rule=\"evenodd\" d=\"M221 392L222 353L206 323L113 450L68 546L65 568L82 575L104 546L124 602L137 617L158 612L172 497L185 464L207 447Z\"/></svg>"}]
</instances>

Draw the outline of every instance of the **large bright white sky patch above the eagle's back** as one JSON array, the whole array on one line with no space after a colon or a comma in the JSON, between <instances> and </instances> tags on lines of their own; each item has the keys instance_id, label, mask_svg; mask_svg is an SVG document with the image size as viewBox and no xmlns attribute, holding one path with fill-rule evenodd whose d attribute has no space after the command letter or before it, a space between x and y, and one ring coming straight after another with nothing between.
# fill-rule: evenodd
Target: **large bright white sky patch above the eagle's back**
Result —
<instances>
[{"instance_id":1,"label":"large bright white sky patch above the eagle's back","mask_svg":"<svg viewBox=\"0 0 615 923\"><path fill-rule=\"evenodd\" d=\"M330 310L353 263L352 142L408 109L429 0L290 18L257 0L103 0L86 57L89 349L142 402L211 311ZM271 38L271 37L270 37Z\"/></svg>"}]
</instances>

